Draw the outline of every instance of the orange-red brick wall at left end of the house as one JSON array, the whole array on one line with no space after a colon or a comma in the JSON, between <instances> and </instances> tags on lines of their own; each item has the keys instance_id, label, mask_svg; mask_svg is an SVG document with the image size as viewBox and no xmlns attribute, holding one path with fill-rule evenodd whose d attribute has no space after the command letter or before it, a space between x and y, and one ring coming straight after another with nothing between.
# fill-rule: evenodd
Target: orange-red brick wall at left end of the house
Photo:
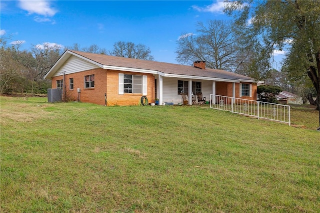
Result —
<instances>
[{"instance_id":1,"label":"orange-red brick wall at left end of the house","mask_svg":"<svg viewBox=\"0 0 320 213\"><path fill-rule=\"evenodd\" d=\"M77 100L77 88L81 89L80 101L104 105L104 93L107 95L108 105L137 105L142 94L118 94L118 73L119 71L105 70L102 68L72 73L65 75L66 96L70 101ZM121 72L135 74L132 72ZM94 74L94 88L84 89L84 76ZM154 76L152 74L136 73L136 75L147 76L147 99L151 103L154 100ZM69 79L73 78L73 90L69 88ZM52 88L56 88L56 80L63 79L63 76L52 78Z\"/></svg>"}]
</instances>

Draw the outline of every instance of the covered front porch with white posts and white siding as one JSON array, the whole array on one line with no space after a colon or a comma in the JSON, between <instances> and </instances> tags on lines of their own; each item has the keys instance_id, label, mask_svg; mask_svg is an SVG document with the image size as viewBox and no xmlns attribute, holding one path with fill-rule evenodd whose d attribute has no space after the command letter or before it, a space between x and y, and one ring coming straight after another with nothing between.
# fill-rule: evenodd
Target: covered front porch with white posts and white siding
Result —
<instances>
[{"instance_id":1,"label":"covered front porch with white posts and white siding","mask_svg":"<svg viewBox=\"0 0 320 213\"><path fill-rule=\"evenodd\" d=\"M242 90L240 81L212 79L206 80L197 76L192 79L155 76L155 94L159 105L170 102L175 105L184 103L188 105L198 104L199 98L196 96L198 92L202 93L205 101L201 103L209 103L210 94L223 95L238 98L241 97L249 100L256 100L256 83L250 82L245 84L247 90ZM244 85L244 84L243 84ZM186 95L183 98L182 95Z\"/></svg>"}]
</instances>

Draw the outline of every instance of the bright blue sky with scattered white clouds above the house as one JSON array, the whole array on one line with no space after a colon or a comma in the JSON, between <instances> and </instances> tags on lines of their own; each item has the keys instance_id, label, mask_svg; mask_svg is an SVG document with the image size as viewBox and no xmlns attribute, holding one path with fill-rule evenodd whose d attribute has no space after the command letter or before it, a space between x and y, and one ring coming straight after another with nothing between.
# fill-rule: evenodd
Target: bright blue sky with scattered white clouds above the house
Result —
<instances>
[{"instance_id":1,"label":"bright blue sky with scattered white clouds above the house","mask_svg":"<svg viewBox=\"0 0 320 213\"><path fill-rule=\"evenodd\" d=\"M12 35L22 48L44 42L61 47L97 44L107 50L116 41L141 43L156 61L177 63L176 41L196 33L196 23L228 19L222 0L1 0L0 34ZM279 60L276 56L275 59Z\"/></svg>"}]
</instances>

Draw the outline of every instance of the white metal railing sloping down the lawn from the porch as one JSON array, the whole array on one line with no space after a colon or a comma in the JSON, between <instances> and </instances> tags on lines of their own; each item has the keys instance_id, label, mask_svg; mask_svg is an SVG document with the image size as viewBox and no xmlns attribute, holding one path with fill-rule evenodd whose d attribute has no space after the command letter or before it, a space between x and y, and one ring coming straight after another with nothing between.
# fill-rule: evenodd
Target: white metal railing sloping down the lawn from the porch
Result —
<instances>
[{"instance_id":1,"label":"white metal railing sloping down the lawn from the porch","mask_svg":"<svg viewBox=\"0 0 320 213\"><path fill-rule=\"evenodd\" d=\"M210 108L290 125L290 106L210 94Z\"/></svg>"}]
</instances>

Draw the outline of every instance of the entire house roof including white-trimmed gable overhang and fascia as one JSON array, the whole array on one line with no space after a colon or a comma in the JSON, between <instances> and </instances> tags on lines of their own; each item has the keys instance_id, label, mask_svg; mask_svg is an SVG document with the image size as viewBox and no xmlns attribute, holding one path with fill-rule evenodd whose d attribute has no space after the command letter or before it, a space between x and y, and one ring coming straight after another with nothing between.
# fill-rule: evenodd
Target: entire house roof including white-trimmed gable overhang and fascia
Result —
<instances>
[{"instance_id":1,"label":"entire house roof including white-trimmed gable overhang and fascia","mask_svg":"<svg viewBox=\"0 0 320 213\"><path fill-rule=\"evenodd\" d=\"M61 58L54 64L54 66L45 75L45 78L52 76L55 71L66 61L70 55L75 55L84 60L98 65L104 69L114 69L131 72L142 72L159 74L168 77L184 77L184 78L195 78L195 79L221 79L226 81L244 81L253 82L254 79L239 75L236 73L228 72L221 69L200 69L193 66L172 64L166 62L140 60L133 58L124 58L118 56L94 54L88 52L80 52L74 50L66 50ZM63 59L64 57L64 59ZM59 65L60 61L60 65Z\"/></svg>"}]
</instances>

